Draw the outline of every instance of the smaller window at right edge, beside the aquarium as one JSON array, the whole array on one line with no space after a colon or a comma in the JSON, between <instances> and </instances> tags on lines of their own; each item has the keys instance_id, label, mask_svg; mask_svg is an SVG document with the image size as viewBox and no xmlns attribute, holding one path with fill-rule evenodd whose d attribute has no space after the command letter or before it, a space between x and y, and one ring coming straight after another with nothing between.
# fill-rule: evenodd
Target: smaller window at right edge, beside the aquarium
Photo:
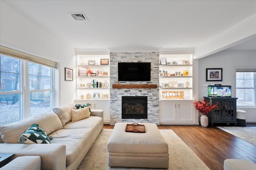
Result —
<instances>
[{"instance_id":1,"label":"smaller window at right edge, beside the aquarium","mask_svg":"<svg viewBox=\"0 0 256 170\"><path fill-rule=\"evenodd\" d=\"M237 106L256 106L256 69L236 69Z\"/></svg>"}]
</instances>

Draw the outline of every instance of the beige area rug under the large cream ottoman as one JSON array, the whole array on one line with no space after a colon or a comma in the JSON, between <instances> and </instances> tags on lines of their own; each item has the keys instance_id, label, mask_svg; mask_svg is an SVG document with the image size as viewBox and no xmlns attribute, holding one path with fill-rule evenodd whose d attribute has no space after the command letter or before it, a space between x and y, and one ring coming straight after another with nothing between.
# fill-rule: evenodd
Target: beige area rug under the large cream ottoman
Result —
<instances>
[{"instance_id":1,"label":"beige area rug under the large cream ottoman","mask_svg":"<svg viewBox=\"0 0 256 170\"><path fill-rule=\"evenodd\" d=\"M172 130L159 130L169 147L170 170L209 170L196 154ZM151 170L108 166L106 145L112 129L103 129L77 170Z\"/></svg>"}]
</instances>

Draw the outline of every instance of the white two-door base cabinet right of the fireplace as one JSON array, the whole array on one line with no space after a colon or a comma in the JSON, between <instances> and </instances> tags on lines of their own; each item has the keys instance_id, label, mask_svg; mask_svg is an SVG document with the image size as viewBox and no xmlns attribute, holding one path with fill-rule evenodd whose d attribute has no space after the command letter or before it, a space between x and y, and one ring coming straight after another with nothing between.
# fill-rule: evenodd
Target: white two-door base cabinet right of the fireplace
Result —
<instances>
[{"instance_id":1,"label":"white two-door base cabinet right of the fireplace","mask_svg":"<svg viewBox=\"0 0 256 170\"><path fill-rule=\"evenodd\" d=\"M195 100L160 100L160 124L190 124L194 125Z\"/></svg>"}]
</instances>

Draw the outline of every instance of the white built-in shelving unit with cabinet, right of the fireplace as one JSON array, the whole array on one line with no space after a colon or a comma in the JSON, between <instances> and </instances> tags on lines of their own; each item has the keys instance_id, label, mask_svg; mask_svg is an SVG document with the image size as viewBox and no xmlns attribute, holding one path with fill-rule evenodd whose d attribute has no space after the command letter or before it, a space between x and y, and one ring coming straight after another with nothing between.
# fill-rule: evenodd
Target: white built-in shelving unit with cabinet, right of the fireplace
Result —
<instances>
[{"instance_id":1,"label":"white built-in shelving unit with cabinet, right of the fireplace","mask_svg":"<svg viewBox=\"0 0 256 170\"><path fill-rule=\"evenodd\" d=\"M159 66L160 124L192 125L196 121L193 54L160 54L160 61L162 59L167 64ZM187 75L184 70L188 70Z\"/></svg>"}]
</instances>

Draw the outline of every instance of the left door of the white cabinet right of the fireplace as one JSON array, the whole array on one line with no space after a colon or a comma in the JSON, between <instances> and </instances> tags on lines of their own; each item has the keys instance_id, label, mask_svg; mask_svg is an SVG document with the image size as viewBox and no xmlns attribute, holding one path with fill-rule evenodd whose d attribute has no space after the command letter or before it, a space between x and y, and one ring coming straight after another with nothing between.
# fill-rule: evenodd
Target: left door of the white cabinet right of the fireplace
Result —
<instances>
[{"instance_id":1,"label":"left door of the white cabinet right of the fireplace","mask_svg":"<svg viewBox=\"0 0 256 170\"><path fill-rule=\"evenodd\" d=\"M160 102L160 122L176 121L176 102Z\"/></svg>"}]
</instances>

